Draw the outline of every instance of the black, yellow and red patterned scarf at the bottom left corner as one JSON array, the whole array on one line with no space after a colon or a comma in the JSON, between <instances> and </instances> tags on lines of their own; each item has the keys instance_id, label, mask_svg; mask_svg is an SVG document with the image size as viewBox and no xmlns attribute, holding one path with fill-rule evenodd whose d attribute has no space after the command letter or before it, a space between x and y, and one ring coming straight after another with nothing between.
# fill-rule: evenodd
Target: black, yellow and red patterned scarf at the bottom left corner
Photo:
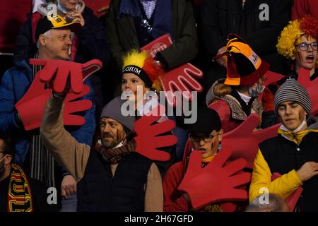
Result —
<instances>
[{"instance_id":1,"label":"black, yellow and red patterned scarf at the bottom left corner","mask_svg":"<svg viewBox=\"0 0 318 226\"><path fill-rule=\"evenodd\" d=\"M31 188L23 170L11 165L8 187L8 212L33 212Z\"/></svg>"}]
</instances>

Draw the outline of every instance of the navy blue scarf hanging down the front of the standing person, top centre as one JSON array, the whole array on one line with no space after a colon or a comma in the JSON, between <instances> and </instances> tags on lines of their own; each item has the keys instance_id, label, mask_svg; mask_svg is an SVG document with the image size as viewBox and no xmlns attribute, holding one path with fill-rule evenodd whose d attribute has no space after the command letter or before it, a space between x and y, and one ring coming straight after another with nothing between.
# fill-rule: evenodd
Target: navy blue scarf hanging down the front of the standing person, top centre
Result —
<instances>
[{"instance_id":1,"label":"navy blue scarf hanging down the front of the standing person, top centre","mask_svg":"<svg viewBox=\"0 0 318 226\"><path fill-rule=\"evenodd\" d=\"M118 18L124 15L129 15L133 18L143 18L141 7L139 6L140 0L122 0L119 6ZM147 11L147 9L145 10ZM151 36L153 39L169 33L172 35L172 2L171 0L157 0L155 10L153 11L153 23ZM149 21L148 21L149 22ZM150 24L150 23L149 23Z\"/></svg>"}]
</instances>

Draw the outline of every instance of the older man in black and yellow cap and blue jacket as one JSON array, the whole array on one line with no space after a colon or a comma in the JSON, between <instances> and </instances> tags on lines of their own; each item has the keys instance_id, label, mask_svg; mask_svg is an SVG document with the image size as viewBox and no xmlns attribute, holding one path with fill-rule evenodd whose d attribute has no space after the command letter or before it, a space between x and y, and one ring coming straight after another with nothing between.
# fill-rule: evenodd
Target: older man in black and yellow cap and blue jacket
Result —
<instances>
[{"instance_id":1,"label":"older man in black and yellow cap and blue jacket","mask_svg":"<svg viewBox=\"0 0 318 226\"><path fill-rule=\"evenodd\" d=\"M69 59L71 31L81 29L78 22L66 23L60 16L42 18L36 29L38 51L36 59ZM25 169L29 177L45 182L59 190L57 165L47 153L38 130L25 131L16 104L25 96L40 66L30 66L25 60L6 71L0 85L0 132L13 133L16 138L15 161ZM88 85L90 83L87 81ZM83 99L93 99L90 92ZM34 109L37 111L38 109ZM90 145L95 131L95 107L83 113L86 123L68 128L81 143ZM67 176L69 178L70 176ZM64 177L66 178L66 177ZM76 185L76 184L75 184Z\"/></svg>"}]
</instances>

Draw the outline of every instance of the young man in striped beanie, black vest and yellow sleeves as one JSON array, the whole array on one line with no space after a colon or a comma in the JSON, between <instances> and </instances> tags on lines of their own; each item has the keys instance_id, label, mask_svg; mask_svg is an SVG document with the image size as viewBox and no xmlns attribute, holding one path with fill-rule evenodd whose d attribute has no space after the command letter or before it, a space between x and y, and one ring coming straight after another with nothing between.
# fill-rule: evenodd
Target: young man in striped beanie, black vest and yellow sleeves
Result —
<instances>
[{"instance_id":1,"label":"young man in striped beanie, black vest and yellow sleeves","mask_svg":"<svg viewBox=\"0 0 318 226\"><path fill-rule=\"evenodd\" d=\"M307 90L295 79L288 79L278 88L274 107L282 125L278 136L259 144L249 201L264 188L286 199L302 186L295 210L318 211L318 122L310 116L311 105ZM271 181L275 172L282 176Z\"/></svg>"}]
</instances>

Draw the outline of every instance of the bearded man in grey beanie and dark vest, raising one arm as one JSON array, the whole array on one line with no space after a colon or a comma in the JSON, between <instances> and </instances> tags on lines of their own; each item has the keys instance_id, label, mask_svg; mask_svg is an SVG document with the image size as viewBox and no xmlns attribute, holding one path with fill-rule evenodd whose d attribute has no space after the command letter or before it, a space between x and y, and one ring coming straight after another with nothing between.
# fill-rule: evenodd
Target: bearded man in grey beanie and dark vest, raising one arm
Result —
<instances>
[{"instance_id":1,"label":"bearded man in grey beanie and dark vest, raising one arm","mask_svg":"<svg viewBox=\"0 0 318 226\"><path fill-rule=\"evenodd\" d=\"M49 152L78 181L78 211L163 210L160 172L135 151L135 119L122 115L125 101L116 97L102 109L98 151L64 129L64 95L53 93L47 102L40 133Z\"/></svg>"}]
</instances>

